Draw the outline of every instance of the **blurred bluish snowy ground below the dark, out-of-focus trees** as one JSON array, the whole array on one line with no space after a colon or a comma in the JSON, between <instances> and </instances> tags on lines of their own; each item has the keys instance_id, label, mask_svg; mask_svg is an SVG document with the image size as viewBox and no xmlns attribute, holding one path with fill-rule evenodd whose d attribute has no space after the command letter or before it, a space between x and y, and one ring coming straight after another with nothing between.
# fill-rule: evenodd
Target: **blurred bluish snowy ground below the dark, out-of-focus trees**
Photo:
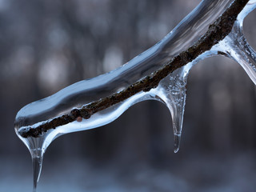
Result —
<instances>
[{"instance_id":1,"label":"blurred bluish snowy ground below the dark, out-of-focus trees","mask_svg":"<svg viewBox=\"0 0 256 192\"><path fill-rule=\"evenodd\" d=\"M45 162L38 192L236 192L255 191L256 162L253 154L228 158L188 155L166 169L151 166L90 166L78 158ZM72 163L72 164L71 164ZM0 158L0 191L32 191L30 161Z\"/></svg>"}]
</instances>

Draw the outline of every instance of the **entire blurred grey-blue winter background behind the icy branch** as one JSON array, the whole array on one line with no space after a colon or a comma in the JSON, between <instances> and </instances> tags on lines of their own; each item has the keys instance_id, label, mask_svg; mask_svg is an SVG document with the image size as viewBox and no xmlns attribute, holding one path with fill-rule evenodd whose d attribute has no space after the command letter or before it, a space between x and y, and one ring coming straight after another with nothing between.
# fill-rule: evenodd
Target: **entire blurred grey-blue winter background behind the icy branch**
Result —
<instances>
[{"instance_id":1,"label":"entire blurred grey-blue winter background behind the icy branch","mask_svg":"<svg viewBox=\"0 0 256 192\"><path fill-rule=\"evenodd\" d=\"M0 0L0 191L32 191L14 133L22 106L106 73L153 46L199 0ZM255 11L245 34L256 48ZM141 102L110 125L48 148L38 191L254 191L256 86L238 63L207 58L188 79L182 144L169 111Z\"/></svg>"}]
</instances>

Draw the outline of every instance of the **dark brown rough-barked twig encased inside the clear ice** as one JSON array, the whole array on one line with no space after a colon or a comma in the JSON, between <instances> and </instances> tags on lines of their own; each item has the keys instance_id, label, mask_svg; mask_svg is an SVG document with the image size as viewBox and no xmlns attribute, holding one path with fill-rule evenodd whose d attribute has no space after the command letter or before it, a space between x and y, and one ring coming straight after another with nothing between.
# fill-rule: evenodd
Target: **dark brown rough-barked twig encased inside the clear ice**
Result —
<instances>
[{"instance_id":1,"label":"dark brown rough-barked twig encased inside the clear ice","mask_svg":"<svg viewBox=\"0 0 256 192\"><path fill-rule=\"evenodd\" d=\"M32 128L28 126L26 129L20 130L19 134L23 138L37 138L43 132L55 129L58 126L66 125L70 122L82 121L82 118L88 119L91 115L123 102L127 98L130 98L141 91L147 92L156 88L159 82L163 78L166 78L168 74L182 66L185 66L187 63L194 61L200 54L210 50L214 45L230 34L230 31L234 26L234 22L237 20L238 14L242 11L244 6L246 6L247 2L249 2L249 0L235 0L232 2L223 14L209 26L206 33L203 34L197 42L194 42L189 46L189 48L179 52L173 58L170 58L170 60L166 62L165 66L154 71L154 73L147 75L120 92L111 94L105 98L100 98L94 102L90 102L88 105L82 106L82 108L70 110L70 112L62 114L56 118L52 118L36 127ZM15 122L15 124L17 123L18 122Z\"/></svg>"}]
</instances>

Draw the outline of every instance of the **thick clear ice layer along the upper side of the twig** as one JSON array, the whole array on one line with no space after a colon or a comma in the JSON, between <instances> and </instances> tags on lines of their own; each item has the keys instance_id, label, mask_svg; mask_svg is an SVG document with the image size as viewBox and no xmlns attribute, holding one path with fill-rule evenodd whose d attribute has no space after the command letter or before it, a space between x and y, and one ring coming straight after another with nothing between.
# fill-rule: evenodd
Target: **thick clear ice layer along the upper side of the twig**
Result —
<instances>
[{"instance_id":1,"label":"thick clear ice layer along the upper side of the twig","mask_svg":"<svg viewBox=\"0 0 256 192\"><path fill-rule=\"evenodd\" d=\"M74 107L105 98L158 70L174 55L196 42L230 2L201 2L170 34L117 70L74 83L48 98L23 107L17 114L16 127L31 126L65 114Z\"/></svg>"}]
</instances>

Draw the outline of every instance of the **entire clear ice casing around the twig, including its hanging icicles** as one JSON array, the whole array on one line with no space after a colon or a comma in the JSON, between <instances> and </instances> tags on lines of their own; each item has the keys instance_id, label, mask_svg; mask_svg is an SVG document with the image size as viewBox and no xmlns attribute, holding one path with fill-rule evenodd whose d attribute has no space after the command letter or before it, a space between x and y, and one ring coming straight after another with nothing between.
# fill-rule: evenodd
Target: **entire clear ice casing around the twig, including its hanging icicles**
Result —
<instances>
[{"instance_id":1,"label":"entire clear ice casing around the twig, including its hanging icicles","mask_svg":"<svg viewBox=\"0 0 256 192\"><path fill-rule=\"evenodd\" d=\"M211 50L198 56L193 62L174 70L173 73L162 79L155 89L148 92L139 92L123 102L93 114L89 119L81 119L81 121L58 126L37 138L22 138L20 134L24 130L33 129L53 118L69 113L74 108L79 109L90 102L97 101L99 98L105 98L124 90L146 75L152 74L155 70L166 65L175 55L196 42L206 32L208 26L230 6L231 2L233 1L202 1L165 38L120 68L96 78L77 82L48 98L32 102L23 107L17 114L15 131L29 148L33 159L34 191L42 169L43 154L54 138L62 134L106 125L118 118L130 106L145 100L153 99L163 102L170 110L174 130L174 152L177 152L182 134L186 78L191 67L203 58L222 54L234 59L246 70L246 73L256 85L256 53L246 42L242 33L243 19L256 7L256 0L251 0L238 15L232 32L225 39L218 42Z\"/></svg>"}]
</instances>

